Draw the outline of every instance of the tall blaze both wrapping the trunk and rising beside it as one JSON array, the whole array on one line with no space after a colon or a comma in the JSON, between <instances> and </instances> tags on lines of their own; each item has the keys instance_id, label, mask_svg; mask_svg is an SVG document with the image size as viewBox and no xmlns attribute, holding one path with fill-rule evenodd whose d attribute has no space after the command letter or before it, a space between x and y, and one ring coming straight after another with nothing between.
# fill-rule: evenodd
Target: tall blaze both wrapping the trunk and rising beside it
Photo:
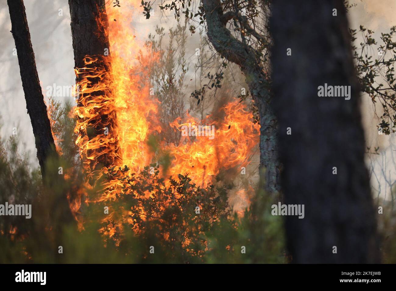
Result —
<instances>
[{"instance_id":1,"label":"tall blaze both wrapping the trunk and rising beside it","mask_svg":"<svg viewBox=\"0 0 396 291\"><path fill-rule=\"evenodd\" d=\"M76 145L92 185L109 167L128 164L138 172L149 164L152 154L145 140L151 131L160 130L158 126L152 129L148 118L156 115L158 102L147 97L150 87L145 80L155 57L145 57L141 44L135 40L129 25L133 4L137 2L123 2L124 13L119 8L108 10L111 54L86 56L86 66L75 70L79 89ZM105 19L101 15L98 25ZM117 184L117 181L104 184L103 195L92 201L114 198Z\"/></svg>"}]
</instances>

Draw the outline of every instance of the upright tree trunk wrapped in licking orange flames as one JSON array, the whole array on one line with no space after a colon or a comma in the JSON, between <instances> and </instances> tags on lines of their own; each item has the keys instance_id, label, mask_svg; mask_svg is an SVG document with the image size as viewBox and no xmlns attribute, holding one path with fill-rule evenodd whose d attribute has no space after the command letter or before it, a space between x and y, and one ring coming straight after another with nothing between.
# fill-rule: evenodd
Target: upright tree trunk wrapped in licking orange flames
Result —
<instances>
[{"instance_id":1,"label":"upright tree trunk wrapped in licking orange flames","mask_svg":"<svg viewBox=\"0 0 396 291\"><path fill-rule=\"evenodd\" d=\"M78 96L76 141L85 169L119 160L105 0L69 0Z\"/></svg>"}]
</instances>

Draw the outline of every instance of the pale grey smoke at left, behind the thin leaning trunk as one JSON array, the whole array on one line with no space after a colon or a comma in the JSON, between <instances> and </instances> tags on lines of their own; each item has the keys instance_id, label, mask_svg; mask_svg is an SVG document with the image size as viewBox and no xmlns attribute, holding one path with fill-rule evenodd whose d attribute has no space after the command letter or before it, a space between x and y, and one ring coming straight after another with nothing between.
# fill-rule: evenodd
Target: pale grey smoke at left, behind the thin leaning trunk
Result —
<instances>
[{"instance_id":1,"label":"pale grey smoke at left, behind the thin leaning trunk","mask_svg":"<svg viewBox=\"0 0 396 291\"><path fill-rule=\"evenodd\" d=\"M74 59L70 30L70 13L67 0L25 0L30 38L44 99L47 86L56 83L72 86ZM6 1L0 3L0 136L6 139L17 127L17 137L25 144L32 164L36 166L36 148L30 118L26 110L25 96L19 73L15 43L11 35L11 21ZM71 102L72 97L58 100Z\"/></svg>"}]
</instances>

